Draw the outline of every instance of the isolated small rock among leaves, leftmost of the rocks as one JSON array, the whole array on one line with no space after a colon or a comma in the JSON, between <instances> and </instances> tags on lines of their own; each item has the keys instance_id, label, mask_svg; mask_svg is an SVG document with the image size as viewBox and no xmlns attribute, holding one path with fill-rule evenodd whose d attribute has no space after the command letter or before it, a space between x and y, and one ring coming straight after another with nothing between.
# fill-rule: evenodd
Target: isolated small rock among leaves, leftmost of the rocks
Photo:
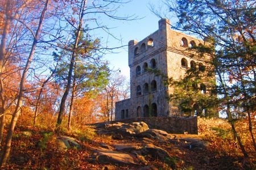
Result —
<instances>
[{"instance_id":1,"label":"isolated small rock among leaves, leftmost of the rocks","mask_svg":"<svg viewBox=\"0 0 256 170\"><path fill-rule=\"evenodd\" d=\"M79 143L76 142L76 139L72 137L65 137L65 136L56 137L56 143L57 143L58 150L65 150L71 147L74 147L77 149L81 148Z\"/></svg>"}]
</instances>

